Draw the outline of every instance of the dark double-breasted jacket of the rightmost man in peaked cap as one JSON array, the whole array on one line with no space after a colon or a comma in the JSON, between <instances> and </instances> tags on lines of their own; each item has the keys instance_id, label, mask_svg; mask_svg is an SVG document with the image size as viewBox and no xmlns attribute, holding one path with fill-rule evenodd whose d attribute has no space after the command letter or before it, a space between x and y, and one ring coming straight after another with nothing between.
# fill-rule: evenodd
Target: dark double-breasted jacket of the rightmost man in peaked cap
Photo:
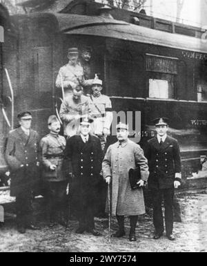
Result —
<instances>
[{"instance_id":1,"label":"dark double-breasted jacket of the rightmost man in peaked cap","mask_svg":"<svg viewBox=\"0 0 207 266\"><path fill-rule=\"evenodd\" d=\"M181 158L177 140L167 136L160 146L157 137L148 140L145 151L148 158L150 175L148 178L149 189L170 189L175 178L175 173L181 173Z\"/></svg>"}]
</instances>

